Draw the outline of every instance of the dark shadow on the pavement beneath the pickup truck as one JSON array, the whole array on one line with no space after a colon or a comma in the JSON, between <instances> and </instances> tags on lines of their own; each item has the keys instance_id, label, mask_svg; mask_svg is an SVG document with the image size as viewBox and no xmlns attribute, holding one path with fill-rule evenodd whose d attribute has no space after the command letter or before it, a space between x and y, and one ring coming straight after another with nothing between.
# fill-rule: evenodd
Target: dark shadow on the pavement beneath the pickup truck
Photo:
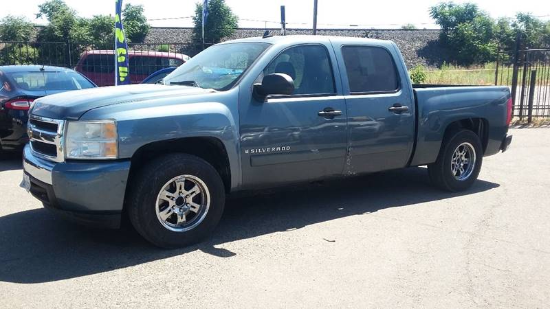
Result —
<instances>
[{"instance_id":1,"label":"dark shadow on the pavement beneath the pickup truck","mask_svg":"<svg viewBox=\"0 0 550 309\"><path fill-rule=\"evenodd\" d=\"M233 197L210 239L170 251L151 246L135 231L88 229L58 219L45 209L21 211L0 217L0 281L53 282L196 250L230 258L238 253L214 246L498 186L477 181L467 192L440 192L430 185L425 168L409 168Z\"/></svg>"}]
</instances>

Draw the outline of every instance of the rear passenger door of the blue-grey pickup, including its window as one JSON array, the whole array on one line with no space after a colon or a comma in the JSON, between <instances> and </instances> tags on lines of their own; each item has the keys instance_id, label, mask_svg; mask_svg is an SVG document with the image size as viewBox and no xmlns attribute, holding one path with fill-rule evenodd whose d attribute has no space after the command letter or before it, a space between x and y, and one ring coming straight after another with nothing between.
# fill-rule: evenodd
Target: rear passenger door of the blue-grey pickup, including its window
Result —
<instances>
[{"instance_id":1,"label":"rear passenger door of the blue-grey pickup, including its window","mask_svg":"<svg viewBox=\"0 0 550 309\"><path fill-rule=\"evenodd\" d=\"M415 106L406 71L392 45L338 45L348 115L347 173L407 165Z\"/></svg>"}]
</instances>

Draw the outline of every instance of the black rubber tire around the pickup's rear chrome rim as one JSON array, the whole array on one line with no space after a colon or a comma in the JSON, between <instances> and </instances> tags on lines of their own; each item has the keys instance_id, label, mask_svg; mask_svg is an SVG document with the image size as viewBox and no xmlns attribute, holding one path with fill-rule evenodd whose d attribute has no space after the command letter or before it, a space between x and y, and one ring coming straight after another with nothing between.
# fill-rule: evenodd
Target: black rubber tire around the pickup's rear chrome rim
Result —
<instances>
[{"instance_id":1,"label":"black rubber tire around the pickup's rear chrome rim","mask_svg":"<svg viewBox=\"0 0 550 309\"><path fill-rule=\"evenodd\" d=\"M471 174L467 178L459 180L452 173L452 157L456 148L463 143L472 146L475 160ZM478 135L471 130L454 130L443 139L437 161L428 165L428 174L434 186L445 191L459 192L467 190L476 181L482 163L483 148Z\"/></svg>"}]
</instances>

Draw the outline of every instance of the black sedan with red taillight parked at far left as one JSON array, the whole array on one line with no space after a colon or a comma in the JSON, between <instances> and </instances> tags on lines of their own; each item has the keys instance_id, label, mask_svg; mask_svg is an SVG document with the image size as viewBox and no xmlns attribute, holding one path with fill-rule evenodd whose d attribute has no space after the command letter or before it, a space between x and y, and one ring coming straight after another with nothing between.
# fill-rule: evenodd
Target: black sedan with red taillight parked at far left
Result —
<instances>
[{"instance_id":1,"label":"black sedan with red taillight parked at far left","mask_svg":"<svg viewBox=\"0 0 550 309\"><path fill-rule=\"evenodd\" d=\"M28 142L28 110L36 98L96 85L63 67L0 66L0 151L23 148Z\"/></svg>"}]
</instances>

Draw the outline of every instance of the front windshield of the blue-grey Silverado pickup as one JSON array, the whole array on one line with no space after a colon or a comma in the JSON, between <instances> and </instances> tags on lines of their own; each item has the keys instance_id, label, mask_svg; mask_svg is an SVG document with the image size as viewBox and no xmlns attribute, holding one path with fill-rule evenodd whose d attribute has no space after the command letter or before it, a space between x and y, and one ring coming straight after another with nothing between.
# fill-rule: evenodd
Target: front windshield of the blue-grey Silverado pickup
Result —
<instances>
[{"instance_id":1,"label":"front windshield of the blue-grey Silverado pickup","mask_svg":"<svg viewBox=\"0 0 550 309\"><path fill-rule=\"evenodd\" d=\"M166 76L164 84L228 90L267 47L270 44L230 43L208 47Z\"/></svg>"}]
</instances>

